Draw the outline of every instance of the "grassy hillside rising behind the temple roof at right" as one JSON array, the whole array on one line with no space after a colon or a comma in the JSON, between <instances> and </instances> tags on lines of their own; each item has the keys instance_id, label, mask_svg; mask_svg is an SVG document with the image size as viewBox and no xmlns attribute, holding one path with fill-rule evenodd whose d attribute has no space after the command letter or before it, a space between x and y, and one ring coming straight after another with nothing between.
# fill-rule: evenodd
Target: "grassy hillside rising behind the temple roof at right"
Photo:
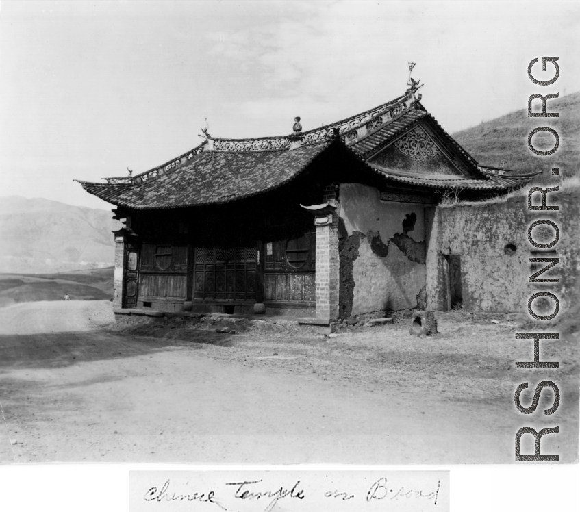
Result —
<instances>
[{"instance_id":1,"label":"grassy hillside rising behind the temple roof at right","mask_svg":"<svg viewBox=\"0 0 580 512\"><path fill-rule=\"evenodd\" d=\"M542 102L535 99L532 112L541 112L541 105ZM483 165L542 170L541 177L538 177L540 182L551 177L553 167L559 168L562 178L580 176L580 92L549 99L546 112L559 112L559 117L528 117L527 110L516 110L453 133L453 138ZM560 145L553 155L540 157L528 149L528 134L540 126L551 127L559 135ZM538 133L533 137L536 149L543 151L551 149L553 141L553 136L547 133ZM553 182L553 177L550 179Z\"/></svg>"}]
</instances>

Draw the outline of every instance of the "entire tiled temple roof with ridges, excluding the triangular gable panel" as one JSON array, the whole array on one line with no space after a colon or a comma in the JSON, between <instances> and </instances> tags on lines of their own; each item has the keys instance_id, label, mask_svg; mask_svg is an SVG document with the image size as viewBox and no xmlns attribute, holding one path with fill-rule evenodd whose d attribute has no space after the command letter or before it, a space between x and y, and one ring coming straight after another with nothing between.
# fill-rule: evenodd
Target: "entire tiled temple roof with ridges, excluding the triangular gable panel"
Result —
<instances>
[{"instance_id":1,"label":"entire tiled temple roof with ridges, excluding the triangular gable panel","mask_svg":"<svg viewBox=\"0 0 580 512\"><path fill-rule=\"evenodd\" d=\"M403 100L401 97L339 123L304 132L302 146L297 149L290 150L288 137L245 140L208 137L192 151L136 177L110 178L108 183L79 183L87 192L109 203L134 209L228 203L288 183L331 144L345 144L357 158L389 181L419 187L506 190L525 185L535 176L535 172L517 173L477 164L418 101L407 106ZM411 175L369 163L377 151L417 123L429 125L438 144L457 155L472 175ZM330 140L331 131L334 142Z\"/></svg>"}]
</instances>

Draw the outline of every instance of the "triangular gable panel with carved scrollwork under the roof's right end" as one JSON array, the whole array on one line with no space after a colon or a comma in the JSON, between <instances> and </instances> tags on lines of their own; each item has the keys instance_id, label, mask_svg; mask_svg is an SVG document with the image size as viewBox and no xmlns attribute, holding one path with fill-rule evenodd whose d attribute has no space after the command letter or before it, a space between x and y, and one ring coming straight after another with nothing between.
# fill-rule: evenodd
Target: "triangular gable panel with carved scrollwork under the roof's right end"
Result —
<instances>
[{"instance_id":1,"label":"triangular gable panel with carved scrollwork under the roof's right end","mask_svg":"<svg viewBox=\"0 0 580 512\"><path fill-rule=\"evenodd\" d=\"M440 146L429 136L427 130L418 125L401 138L395 140L386 149L369 160L369 164L409 172L410 174L459 175L470 174L458 159L454 162Z\"/></svg>"}]
</instances>

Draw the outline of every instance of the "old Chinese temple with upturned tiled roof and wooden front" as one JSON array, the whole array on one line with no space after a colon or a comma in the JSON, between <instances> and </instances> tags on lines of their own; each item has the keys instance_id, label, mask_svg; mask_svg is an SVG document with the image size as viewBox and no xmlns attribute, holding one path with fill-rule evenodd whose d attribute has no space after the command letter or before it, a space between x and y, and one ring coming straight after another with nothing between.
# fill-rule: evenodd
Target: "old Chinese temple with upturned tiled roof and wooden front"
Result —
<instances>
[{"instance_id":1,"label":"old Chinese temple with upturned tiled roof and wooden front","mask_svg":"<svg viewBox=\"0 0 580 512\"><path fill-rule=\"evenodd\" d=\"M203 143L139 175L82 187L115 206L114 306L198 313L376 318L445 309L429 272L460 272L452 255L428 265L437 205L479 201L535 173L479 164L420 103L401 97L288 136ZM290 123L289 123L290 124ZM451 284L449 284L451 283Z\"/></svg>"}]
</instances>

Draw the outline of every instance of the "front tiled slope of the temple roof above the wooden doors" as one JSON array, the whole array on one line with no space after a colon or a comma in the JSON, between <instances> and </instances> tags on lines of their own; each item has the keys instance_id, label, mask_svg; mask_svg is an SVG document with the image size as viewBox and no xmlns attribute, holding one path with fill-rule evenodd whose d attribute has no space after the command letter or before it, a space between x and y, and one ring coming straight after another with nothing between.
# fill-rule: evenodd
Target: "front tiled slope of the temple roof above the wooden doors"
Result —
<instances>
[{"instance_id":1,"label":"front tiled slope of the temple roof above the wooden doors","mask_svg":"<svg viewBox=\"0 0 580 512\"><path fill-rule=\"evenodd\" d=\"M330 144L320 142L292 151L203 151L171 172L144 183L79 183L104 201L134 209L227 203L288 183Z\"/></svg>"}]
</instances>

